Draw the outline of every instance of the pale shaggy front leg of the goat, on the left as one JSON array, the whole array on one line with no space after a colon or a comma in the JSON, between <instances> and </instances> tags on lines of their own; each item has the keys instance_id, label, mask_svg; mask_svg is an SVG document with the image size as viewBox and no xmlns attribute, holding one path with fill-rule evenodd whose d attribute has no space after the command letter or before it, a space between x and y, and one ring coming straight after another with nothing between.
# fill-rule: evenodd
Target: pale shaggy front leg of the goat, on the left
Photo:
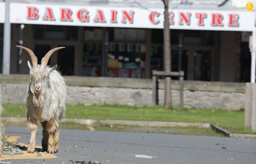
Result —
<instances>
[{"instance_id":1,"label":"pale shaggy front leg of the goat, on the left","mask_svg":"<svg viewBox=\"0 0 256 164\"><path fill-rule=\"evenodd\" d=\"M27 129L31 130L30 143L27 148L28 153L34 153L34 147L36 145L36 131L38 129L37 119L28 118L27 119Z\"/></svg>"}]
</instances>

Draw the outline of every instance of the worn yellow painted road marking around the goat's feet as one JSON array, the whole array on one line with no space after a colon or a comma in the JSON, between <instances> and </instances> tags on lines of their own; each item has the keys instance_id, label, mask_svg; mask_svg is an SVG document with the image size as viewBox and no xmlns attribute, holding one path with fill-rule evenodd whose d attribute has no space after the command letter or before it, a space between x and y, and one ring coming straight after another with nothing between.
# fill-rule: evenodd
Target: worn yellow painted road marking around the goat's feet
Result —
<instances>
[{"instance_id":1,"label":"worn yellow painted road marking around the goat's feet","mask_svg":"<svg viewBox=\"0 0 256 164\"><path fill-rule=\"evenodd\" d=\"M7 141L9 142L16 142L20 136L6 136L5 138L7 138ZM20 143L20 145L28 147L27 144L22 144ZM35 148L42 148L42 146L35 146ZM50 154L50 153L28 153L26 151L23 151L23 154L20 155L2 155L0 157L0 160L6 160L6 159L49 159L49 158L57 158L57 156L55 156L54 154Z\"/></svg>"}]
</instances>

